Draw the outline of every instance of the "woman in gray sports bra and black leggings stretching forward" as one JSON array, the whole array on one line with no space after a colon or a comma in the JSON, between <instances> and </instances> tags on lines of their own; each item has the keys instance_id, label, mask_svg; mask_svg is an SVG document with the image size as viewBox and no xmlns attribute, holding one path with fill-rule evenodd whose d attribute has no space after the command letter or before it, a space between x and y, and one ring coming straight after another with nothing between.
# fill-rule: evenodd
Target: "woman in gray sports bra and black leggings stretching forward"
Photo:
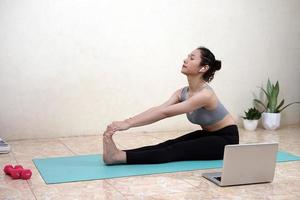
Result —
<instances>
[{"instance_id":1,"label":"woman in gray sports bra and black leggings stretching forward","mask_svg":"<svg viewBox=\"0 0 300 200\"><path fill-rule=\"evenodd\" d=\"M234 119L207 84L220 70L221 61L199 47L184 60L181 73L188 86L178 89L160 106L152 107L124 121L114 121L103 134L103 160L106 164L154 164L182 160L223 159L227 144L238 144L239 133ZM157 145L119 150L112 136L116 131L143 126L186 113L188 120L199 124L197 130Z\"/></svg>"}]
</instances>

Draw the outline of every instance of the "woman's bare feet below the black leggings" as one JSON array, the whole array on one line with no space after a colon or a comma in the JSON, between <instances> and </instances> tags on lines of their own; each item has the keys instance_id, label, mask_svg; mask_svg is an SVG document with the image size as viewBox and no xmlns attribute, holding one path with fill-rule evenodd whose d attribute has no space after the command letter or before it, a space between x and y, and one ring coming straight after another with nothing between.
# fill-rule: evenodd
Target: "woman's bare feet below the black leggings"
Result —
<instances>
[{"instance_id":1,"label":"woman's bare feet below the black leggings","mask_svg":"<svg viewBox=\"0 0 300 200\"><path fill-rule=\"evenodd\" d=\"M116 147L112 135L109 131L103 134L103 161L107 165L126 163L126 153Z\"/></svg>"}]
</instances>

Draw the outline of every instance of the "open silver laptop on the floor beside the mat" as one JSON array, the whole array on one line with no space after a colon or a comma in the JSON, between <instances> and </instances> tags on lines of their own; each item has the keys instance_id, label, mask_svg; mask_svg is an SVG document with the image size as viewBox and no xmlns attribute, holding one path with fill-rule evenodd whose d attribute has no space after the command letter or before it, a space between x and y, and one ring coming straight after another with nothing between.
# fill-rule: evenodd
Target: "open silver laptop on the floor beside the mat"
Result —
<instances>
[{"instance_id":1,"label":"open silver laptop on the floor beside the mat","mask_svg":"<svg viewBox=\"0 0 300 200\"><path fill-rule=\"evenodd\" d=\"M226 145L223 170L202 176L219 186L272 182L278 143Z\"/></svg>"}]
</instances>

